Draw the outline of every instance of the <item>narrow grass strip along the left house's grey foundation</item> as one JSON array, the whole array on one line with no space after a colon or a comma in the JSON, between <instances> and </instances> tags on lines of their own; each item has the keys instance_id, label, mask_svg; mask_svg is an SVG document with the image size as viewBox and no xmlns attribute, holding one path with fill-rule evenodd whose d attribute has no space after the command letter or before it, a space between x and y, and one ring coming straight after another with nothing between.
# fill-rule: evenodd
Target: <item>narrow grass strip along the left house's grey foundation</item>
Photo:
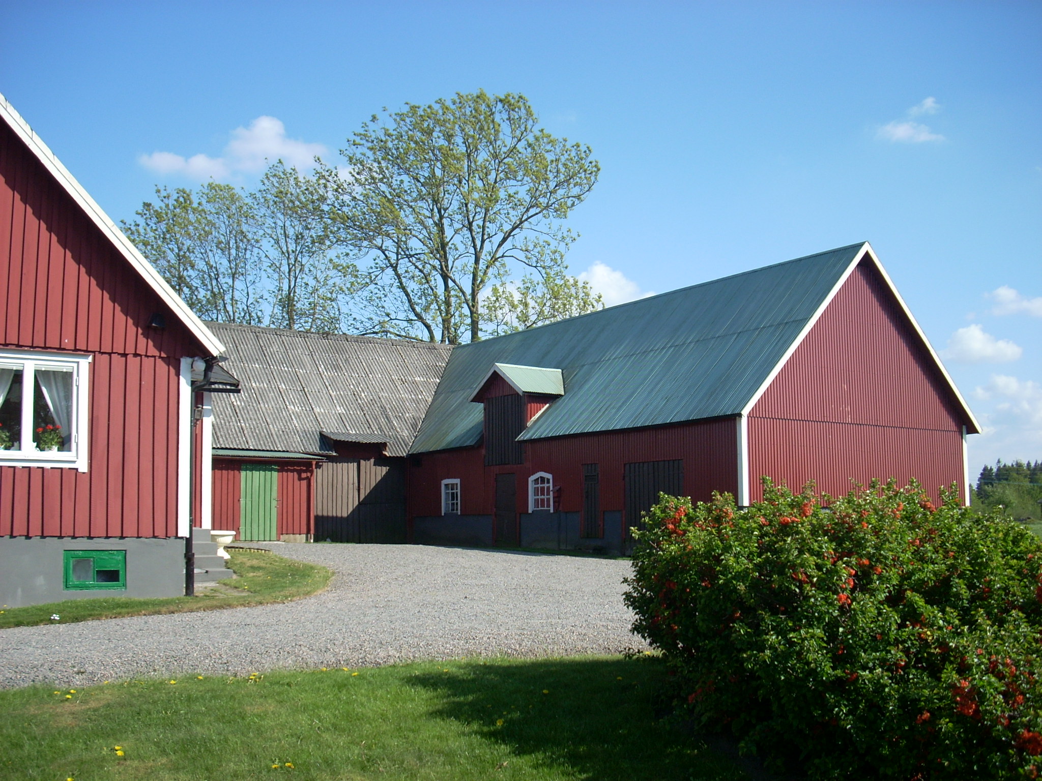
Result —
<instances>
[{"instance_id":1,"label":"narrow grass strip along the left house's grey foundation","mask_svg":"<svg viewBox=\"0 0 1042 781\"><path fill-rule=\"evenodd\" d=\"M231 556L228 565L239 577L222 580L220 589L200 589L195 597L103 597L3 608L0 609L0 629L289 602L322 590L332 577L332 572L324 566L294 561L273 553L242 550L230 550L228 553ZM52 614L61 618L53 621Z\"/></svg>"}]
</instances>

